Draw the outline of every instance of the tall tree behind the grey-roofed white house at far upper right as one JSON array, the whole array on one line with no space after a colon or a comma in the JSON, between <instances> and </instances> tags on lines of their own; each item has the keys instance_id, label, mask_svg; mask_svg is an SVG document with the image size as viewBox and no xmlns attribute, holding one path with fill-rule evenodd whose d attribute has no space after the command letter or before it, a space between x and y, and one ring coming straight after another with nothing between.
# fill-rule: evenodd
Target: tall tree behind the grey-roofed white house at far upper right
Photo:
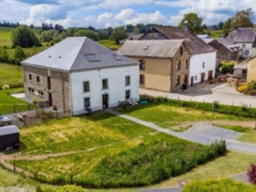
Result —
<instances>
[{"instance_id":1,"label":"tall tree behind the grey-roofed white house at far upper right","mask_svg":"<svg viewBox=\"0 0 256 192\"><path fill-rule=\"evenodd\" d=\"M231 22L231 28L236 27L253 27L253 11L250 9L237 12Z\"/></svg>"}]
</instances>

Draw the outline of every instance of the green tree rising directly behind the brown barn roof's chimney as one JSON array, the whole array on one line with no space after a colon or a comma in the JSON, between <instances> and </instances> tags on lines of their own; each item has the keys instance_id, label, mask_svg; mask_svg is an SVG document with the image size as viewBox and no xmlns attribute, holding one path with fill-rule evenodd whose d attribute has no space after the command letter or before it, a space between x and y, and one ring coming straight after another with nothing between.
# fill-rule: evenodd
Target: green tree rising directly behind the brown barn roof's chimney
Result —
<instances>
[{"instance_id":1,"label":"green tree rising directly behind the brown barn roof's chimney","mask_svg":"<svg viewBox=\"0 0 256 192\"><path fill-rule=\"evenodd\" d=\"M188 21L188 29L195 34L203 34L203 19L197 14L191 12L190 14L184 15L184 18L181 20L179 27L184 27L184 22Z\"/></svg>"}]
</instances>

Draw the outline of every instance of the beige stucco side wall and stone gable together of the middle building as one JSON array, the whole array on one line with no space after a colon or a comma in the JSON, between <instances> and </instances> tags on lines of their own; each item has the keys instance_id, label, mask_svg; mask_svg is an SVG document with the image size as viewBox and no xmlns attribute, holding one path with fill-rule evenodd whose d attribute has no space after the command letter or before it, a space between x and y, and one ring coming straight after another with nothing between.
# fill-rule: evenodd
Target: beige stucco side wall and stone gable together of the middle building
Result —
<instances>
[{"instance_id":1,"label":"beige stucco side wall and stone gable together of the middle building","mask_svg":"<svg viewBox=\"0 0 256 192\"><path fill-rule=\"evenodd\" d=\"M183 55L180 55L181 47L183 47ZM190 54L184 44L181 47L173 58L127 56L137 62L144 60L145 69L140 70L140 74L144 75L145 83L140 87L168 93L182 89L185 76L187 75L189 78ZM176 65L179 61L180 70L176 70ZM186 62L188 62L188 68L186 68ZM176 77L180 77L179 85L176 85Z\"/></svg>"}]
</instances>

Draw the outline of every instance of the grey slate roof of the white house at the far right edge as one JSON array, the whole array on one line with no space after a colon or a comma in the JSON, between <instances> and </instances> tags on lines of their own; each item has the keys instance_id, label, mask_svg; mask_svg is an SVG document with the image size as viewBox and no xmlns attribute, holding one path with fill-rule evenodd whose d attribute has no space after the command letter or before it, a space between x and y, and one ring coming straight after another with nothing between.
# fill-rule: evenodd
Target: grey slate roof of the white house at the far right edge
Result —
<instances>
[{"instance_id":1,"label":"grey slate roof of the white house at the far right edge","mask_svg":"<svg viewBox=\"0 0 256 192\"><path fill-rule=\"evenodd\" d=\"M238 28L237 30L230 32L228 38L233 43L254 43L256 32L250 27Z\"/></svg>"}]
</instances>

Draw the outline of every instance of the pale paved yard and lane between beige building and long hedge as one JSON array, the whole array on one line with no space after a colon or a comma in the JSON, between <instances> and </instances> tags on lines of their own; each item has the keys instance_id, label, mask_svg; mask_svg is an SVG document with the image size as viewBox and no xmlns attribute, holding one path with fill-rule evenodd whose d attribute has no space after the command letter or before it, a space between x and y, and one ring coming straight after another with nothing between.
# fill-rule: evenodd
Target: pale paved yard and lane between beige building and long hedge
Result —
<instances>
[{"instance_id":1,"label":"pale paved yard and lane between beige building and long hedge","mask_svg":"<svg viewBox=\"0 0 256 192\"><path fill-rule=\"evenodd\" d=\"M222 105L234 105L242 106L247 104L253 108L256 108L256 98L249 95L243 95L236 91L234 87L228 85L199 85L193 89L189 89L184 93L165 93L161 91L140 89L140 94L147 94L154 97L167 97L170 99L179 99L183 101L196 101L213 103L218 101Z\"/></svg>"}]
</instances>

